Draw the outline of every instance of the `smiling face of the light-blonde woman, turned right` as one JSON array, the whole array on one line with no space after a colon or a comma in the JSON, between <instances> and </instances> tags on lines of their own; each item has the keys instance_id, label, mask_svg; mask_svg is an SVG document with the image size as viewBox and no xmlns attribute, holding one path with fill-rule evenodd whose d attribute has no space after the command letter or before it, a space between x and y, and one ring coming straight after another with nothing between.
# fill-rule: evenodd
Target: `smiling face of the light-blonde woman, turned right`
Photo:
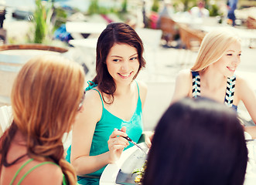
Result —
<instances>
[{"instance_id":1,"label":"smiling face of the light-blonde woman, turned right","mask_svg":"<svg viewBox=\"0 0 256 185\"><path fill-rule=\"evenodd\" d=\"M224 55L217 62L213 63L213 66L224 76L231 77L241 62L240 57L241 43L234 42L227 48Z\"/></svg>"}]
</instances>

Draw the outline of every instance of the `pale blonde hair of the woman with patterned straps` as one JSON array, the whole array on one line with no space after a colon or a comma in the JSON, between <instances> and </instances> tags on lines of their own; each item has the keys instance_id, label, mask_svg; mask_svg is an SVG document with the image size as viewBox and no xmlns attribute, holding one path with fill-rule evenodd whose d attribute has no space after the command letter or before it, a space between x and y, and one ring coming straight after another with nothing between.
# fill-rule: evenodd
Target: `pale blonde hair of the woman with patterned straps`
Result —
<instances>
[{"instance_id":1,"label":"pale blonde hair of the woman with patterned straps","mask_svg":"<svg viewBox=\"0 0 256 185\"><path fill-rule=\"evenodd\" d=\"M208 32L203 38L196 62L191 70L202 71L207 69L208 66L217 62L227 51L227 48L235 42L241 43L241 39L234 29L215 29Z\"/></svg>"}]
</instances>

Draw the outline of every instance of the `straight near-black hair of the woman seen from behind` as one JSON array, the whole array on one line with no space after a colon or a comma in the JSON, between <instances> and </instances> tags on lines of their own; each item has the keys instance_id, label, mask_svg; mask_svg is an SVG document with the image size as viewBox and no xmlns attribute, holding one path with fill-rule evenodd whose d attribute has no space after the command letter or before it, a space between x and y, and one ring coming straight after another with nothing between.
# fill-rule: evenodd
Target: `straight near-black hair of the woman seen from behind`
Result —
<instances>
[{"instance_id":1,"label":"straight near-black hair of the woman seen from behind","mask_svg":"<svg viewBox=\"0 0 256 185\"><path fill-rule=\"evenodd\" d=\"M237 114L207 99L183 99L160 119L143 185L242 185L247 167Z\"/></svg>"}]
</instances>

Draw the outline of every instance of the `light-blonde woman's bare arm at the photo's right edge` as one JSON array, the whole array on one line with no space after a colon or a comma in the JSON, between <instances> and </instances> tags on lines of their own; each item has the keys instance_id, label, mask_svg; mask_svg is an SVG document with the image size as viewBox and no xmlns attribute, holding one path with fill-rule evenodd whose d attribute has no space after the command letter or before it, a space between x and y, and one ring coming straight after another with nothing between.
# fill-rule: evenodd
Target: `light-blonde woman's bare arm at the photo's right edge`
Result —
<instances>
[{"instance_id":1,"label":"light-blonde woman's bare arm at the photo's right edge","mask_svg":"<svg viewBox=\"0 0 256 185\"><path fill-rule=\"evenodd\" d=\"M241 78L237 78L236 92L238 93L239 99L244 103L251 119L256 123L256 95L248 85L247 81ZM253 138L256 138L256 126L244 127L247 133L250 133Z\"/></svg>"}]
</instances>

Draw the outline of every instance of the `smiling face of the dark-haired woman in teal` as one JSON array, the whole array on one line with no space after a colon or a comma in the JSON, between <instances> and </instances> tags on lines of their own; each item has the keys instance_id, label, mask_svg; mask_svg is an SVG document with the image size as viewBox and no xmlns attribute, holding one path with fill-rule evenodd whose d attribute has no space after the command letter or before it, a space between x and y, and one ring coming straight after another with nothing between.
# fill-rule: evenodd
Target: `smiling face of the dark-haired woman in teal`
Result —
<instances>
[{"instance_id":1,"label":"smiling face of the dark-haired woman in teal","mask_svg":"<svg viewBox=\"0 0 256 185\"><path fill-rule=\"evenodd\" d=\"M137 49L127 44L114 44L106 63L108 72L116 84L131 83L139 68Z\"/></svg>"}]
</instances>

